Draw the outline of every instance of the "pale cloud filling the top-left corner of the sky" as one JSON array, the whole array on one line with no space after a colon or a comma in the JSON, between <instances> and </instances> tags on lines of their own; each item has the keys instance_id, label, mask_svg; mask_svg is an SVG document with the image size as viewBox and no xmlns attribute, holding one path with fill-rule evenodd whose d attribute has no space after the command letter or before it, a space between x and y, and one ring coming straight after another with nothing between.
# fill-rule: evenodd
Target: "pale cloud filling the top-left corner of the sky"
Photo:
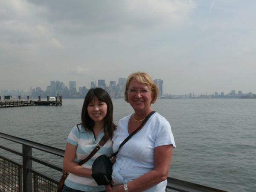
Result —
<instances>
[{"instance_id":1,"label":"pale cloud filling the top-left corner of the sky","mask_svg":"<svg viewBox=\"0 0 256 192\"><path fill-rule=\"evenodd\" d=\"M8 57L10 51L20 57L43 49L64 49L47 22L35 17L41 9L25 0L0 0L0 52Z\"/></svg>"}]
</instances>

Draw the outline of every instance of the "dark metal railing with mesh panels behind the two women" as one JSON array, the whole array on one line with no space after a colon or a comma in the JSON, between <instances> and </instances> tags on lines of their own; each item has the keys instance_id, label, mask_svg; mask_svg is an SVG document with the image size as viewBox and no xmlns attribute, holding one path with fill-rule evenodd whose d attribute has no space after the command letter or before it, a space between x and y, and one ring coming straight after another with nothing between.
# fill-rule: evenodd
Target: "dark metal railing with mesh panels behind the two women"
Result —
<instances>
[{"instance_id":1,"label":"dark metal railing with mesh panels behind the two women","mask_svg":"<svg viewBox=\"0 0 256 192\"><path fill-rule=\"evenodd\" d=\"M4 133L0 133L0 138L22 145L22 152L0 145L1 149L22 157L22 163L20 163L13 158L3 156L2 153L0 154L0 192L55 192L57 190L62 167L45 160L45 156L33 156L32 148L44 151L50 156L55 155L61 158L64 157L64 150ZM60 172L59 177L54 178L52 175L38 171L38 169L34 167L34 162ZM172 177L168 177L167 181L166 191L225 192L220 189L190 183Z\"/></svg>"}]
</instances>

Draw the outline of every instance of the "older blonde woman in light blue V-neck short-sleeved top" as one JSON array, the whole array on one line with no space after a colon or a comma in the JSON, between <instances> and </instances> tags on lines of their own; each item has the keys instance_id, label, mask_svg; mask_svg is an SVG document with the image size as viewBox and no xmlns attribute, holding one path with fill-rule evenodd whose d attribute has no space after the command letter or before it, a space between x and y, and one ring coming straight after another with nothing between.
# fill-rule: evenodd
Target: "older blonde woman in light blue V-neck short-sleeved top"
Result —
<instances>
[{"instance_id":1,"label":"older blonde woman in light blue V-neck short-sleeved top","mask_svg":"<svg viewBox=\"0 0 256 192\"><path fill-rule=\"evenodd\" d=\"M119 120L113 151L153 111L158 88L147 73L132 73L126 82L125 101L134 113ZM120 148L113 165L113 181L107 192L165 192L175 141L169 122L154 113L143 127Z\"/></svg>"}]
</instances>

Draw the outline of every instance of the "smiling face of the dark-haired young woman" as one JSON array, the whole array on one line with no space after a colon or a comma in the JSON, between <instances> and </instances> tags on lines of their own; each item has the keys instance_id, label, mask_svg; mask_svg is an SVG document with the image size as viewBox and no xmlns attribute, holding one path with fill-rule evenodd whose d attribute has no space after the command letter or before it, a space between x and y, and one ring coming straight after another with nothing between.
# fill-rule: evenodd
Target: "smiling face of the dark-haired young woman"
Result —
<instances>
[{"instance_id":1,"label":"smiling face of the dark-haired young woman","mask_svg":"<svg viewBox=\"0 0 256 192\"><path fill-rule=\"evenodd\" d=\"M94 122L103 122L107 115L108 105L105 102L98 101L94 98L88 105L87 111L91 119Z\"/></svg>"}]
</instances>

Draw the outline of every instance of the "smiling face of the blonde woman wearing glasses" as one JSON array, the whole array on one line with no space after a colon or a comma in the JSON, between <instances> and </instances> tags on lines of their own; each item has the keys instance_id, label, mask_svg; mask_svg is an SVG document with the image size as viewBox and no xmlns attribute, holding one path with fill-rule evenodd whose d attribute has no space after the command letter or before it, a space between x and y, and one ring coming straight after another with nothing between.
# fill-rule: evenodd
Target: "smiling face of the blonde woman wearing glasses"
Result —
<instances>
[{"instance_id":1,"label":"smiling face of the blonde woman wearing glasses","mask_svg":"<svg viewBox=\"0 0 256 192\"><path fill-rule=\"evenodd\" d=\"M146 113L151 110L153 99L151 89L133 78L128 87L128 102L135 112Z\"/></svg>"}]
</instances>

